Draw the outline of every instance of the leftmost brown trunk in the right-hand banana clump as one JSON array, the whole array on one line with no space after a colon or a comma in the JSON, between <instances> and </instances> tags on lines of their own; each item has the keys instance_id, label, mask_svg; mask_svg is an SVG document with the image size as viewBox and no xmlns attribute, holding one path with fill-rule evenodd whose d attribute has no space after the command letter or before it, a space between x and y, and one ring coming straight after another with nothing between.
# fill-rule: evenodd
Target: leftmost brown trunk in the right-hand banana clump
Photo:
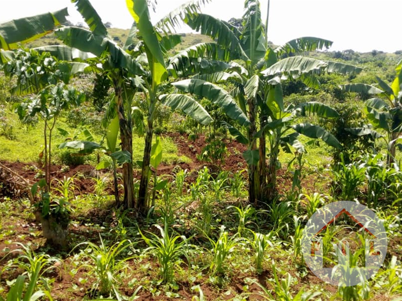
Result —
<instances>
[{"instance_id":1,"label":"leftmost brown trunk in the right-hand banana clump","mask_svg":"<svg viewBox=\"0 0 402 301\"><path fill-rule=\"evenodd\" d=\"M256 124L256 104L254 99L248 100L248 120L250 120L250 126L248 128L248 141L250 150L257 149L257 143L255 139ZM258 166L249 164L248 165L248 201L254 205L257 204L258 197L260 196L260 183L258 175Z\"/></svg>"}]
</instances>

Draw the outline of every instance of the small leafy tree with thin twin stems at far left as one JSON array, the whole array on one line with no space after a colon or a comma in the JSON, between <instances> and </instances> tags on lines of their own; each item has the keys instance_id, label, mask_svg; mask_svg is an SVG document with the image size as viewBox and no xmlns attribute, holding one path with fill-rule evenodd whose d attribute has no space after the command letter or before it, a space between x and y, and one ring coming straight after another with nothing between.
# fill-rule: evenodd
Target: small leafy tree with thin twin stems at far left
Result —
<instances>
[{"instance_id":1,"label":"small leafy tree with thin twin stems at far left","mask_svg":"<svg viewBox=\"0 0 402 301\"><path fill-rule=\"evenodd\" d=\"M19 49L8 58L3 66L4 73L10 77L14 75L17 77L12 93L36 94L19 104L16 112L21 120L25 120L28 116L39 116L44 121L45 145L42 156L45 162L46 189L49 189L52 131L62 110L78 106L84 100L85 95L68 87L68 82L72 75L83 71L88 65L84 63L72 65L66 61L58 61L51 57L50 53L35 49L29 51Z\"/></svg>"}]
</instances>

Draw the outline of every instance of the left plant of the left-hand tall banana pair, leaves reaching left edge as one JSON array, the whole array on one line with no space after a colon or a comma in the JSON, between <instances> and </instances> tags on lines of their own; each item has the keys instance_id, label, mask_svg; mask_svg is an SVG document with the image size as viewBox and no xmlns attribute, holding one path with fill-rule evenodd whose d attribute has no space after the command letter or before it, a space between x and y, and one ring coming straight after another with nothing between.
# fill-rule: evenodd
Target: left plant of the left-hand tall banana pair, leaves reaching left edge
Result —
<instances>
[{"instance_id":1,"label":"left plant of the left-hand tall banana pair, leaves reaching left edge","mask_svg":"<svg viewBox=\"0 0 402 301\"><path fill-rule=\"evenodd\" d=\"M124 201L126 207L133 207L133 173L132 173L132 142L131 142L131 98L135 90L131 82L134 81L130 76L143 75L145 73L129 54L118 47L107 35L107 30L96 11L88 1L76 2L76 7L84 17L89 26L89 30L75 27L62 27L56 34L67 45L54 45L41 47L39 52L51 53L58 60L69 61L72 71L93 71L105 73L113 83L115 97L110 105L115 109L115 115L119 118L119 129L121 134L121 146L123 151L130 154L129 161L123 164L123 182L124 182ZM43 14L34 17L15 20L6 24L0 24L0 42L2 48L15 48L17 42L27 42L36 39L55 30L55 27L63 23L66 19L67 9L55 12L53 14ZM12 61L14 54L8 50L0 51L2 63ZM83 63L88 60L87 63ZM32 69L32 68L31 68ZM40 73L43 73L43 70ZM33 87L41 87L46 83L46 77L22 77L32 78ZM39 73L39 72L38 72ZM39 81L37 79L40 79ZM22 92L28 91L32 85L23 83ZM114 116L111 116L113 119Z\"/></svg>"}]
</instances>

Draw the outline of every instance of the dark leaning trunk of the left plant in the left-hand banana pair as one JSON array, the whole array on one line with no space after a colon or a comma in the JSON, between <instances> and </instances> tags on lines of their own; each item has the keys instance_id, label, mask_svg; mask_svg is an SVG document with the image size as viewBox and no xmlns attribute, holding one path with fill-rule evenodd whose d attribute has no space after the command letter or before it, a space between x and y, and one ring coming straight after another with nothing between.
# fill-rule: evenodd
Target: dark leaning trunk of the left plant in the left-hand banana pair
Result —
<instances>
[{"instance_id":1,"label":"dark leaning trunk of the left plant in the left-hand banana pair","mask_svg":"<svg viewBox=\"0 0 402 301\"><path fill-rule=\"evenodd\" d=\"M134 207L134 181L133 181L133 133L132 127L127 122L124 114L123 98L121 96L121 87L115 89L117 96L117 114L119 116L121 150L127 150L130 153L131 161L123 164L123 187L124 199L123 204L125 208Z\"/></svg>"}]
</instances>

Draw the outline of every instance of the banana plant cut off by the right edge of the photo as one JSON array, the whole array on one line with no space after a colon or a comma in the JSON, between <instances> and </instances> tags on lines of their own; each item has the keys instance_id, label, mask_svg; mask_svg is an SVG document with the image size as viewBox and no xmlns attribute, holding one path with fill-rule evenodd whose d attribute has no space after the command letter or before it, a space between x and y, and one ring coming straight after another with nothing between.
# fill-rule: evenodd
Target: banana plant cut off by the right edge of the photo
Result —
<instances>
[{"instance_id":1,"label":"banana plant cut off by the right edge of the photo","mask_svg":"<svg viewBox=\"0 0 402 301\"><path fill-rule=\"evenodd\" d=\"M402 138L402 60L396 65L396 75L391 85L376 76L378 86L364 83L342 85L345 92L356 92L377 96L366 101L366 116L375 129L384 130L388 144L387 164L395 161L396 145ZM367 129L353 129L356 134L364 134Z\"/></svg>"}]
</instances>

